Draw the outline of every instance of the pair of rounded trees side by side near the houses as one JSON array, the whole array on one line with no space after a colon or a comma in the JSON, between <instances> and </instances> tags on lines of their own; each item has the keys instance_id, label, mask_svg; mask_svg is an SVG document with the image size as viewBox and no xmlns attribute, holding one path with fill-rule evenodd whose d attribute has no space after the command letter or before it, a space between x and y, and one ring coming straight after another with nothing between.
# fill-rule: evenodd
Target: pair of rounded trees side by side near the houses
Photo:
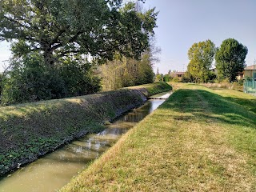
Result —
<instances>
[{"instance_id":1,"label":"pair of rounded trees side by side near the houses","mask_svg":"<svg viewBox=\"0 0 256 192\"><path fill-rule=\"evenodd\" d=\"M187 66L186 81L208 82L214 78L219 81L227 78L234 82L245 67L247 52L247 47L234 38L224 40L218 48L210 40L196 42L188 50L190 62ZM214 59L217 76L210 70Z\"/></svg>"}]
</instances>

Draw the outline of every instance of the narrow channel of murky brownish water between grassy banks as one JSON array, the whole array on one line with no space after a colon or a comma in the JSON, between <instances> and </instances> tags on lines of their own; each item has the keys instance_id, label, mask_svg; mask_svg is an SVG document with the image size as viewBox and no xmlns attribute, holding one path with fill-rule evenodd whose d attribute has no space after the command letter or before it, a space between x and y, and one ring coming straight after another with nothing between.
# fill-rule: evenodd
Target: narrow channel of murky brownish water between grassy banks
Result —
<instances>
[{"instance_id":1,"label":"narrow channel of murky brownish water between grassy banks","mask_svg":"<svg viewBox=\"0 0 256 192\"><path fill-rule=\"evenodd\" d=\"M106 126L106 130L101 133L86 135L21 167L0 180L0 191L52 192L60 189L77 175L79 170L113 146L122 134L157 109L162 102L164 100L150 99L143 106Z\"/></svg>"}]
</instances>

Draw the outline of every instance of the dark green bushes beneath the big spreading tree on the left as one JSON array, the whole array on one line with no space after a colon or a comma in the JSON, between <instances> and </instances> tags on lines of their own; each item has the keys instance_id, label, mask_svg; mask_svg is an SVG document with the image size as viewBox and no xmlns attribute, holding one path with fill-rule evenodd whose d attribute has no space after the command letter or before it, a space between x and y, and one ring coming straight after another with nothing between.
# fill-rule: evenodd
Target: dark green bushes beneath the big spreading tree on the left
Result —
<instances>
[{"instance_id":1,"label":"dark green bushes beneath the big spreading tree on the left","mask_svg":"<svg viewBox=\"0 0 256 192\"><path fill-rule=\"evenodd\" d=\"M14 60L2 87L2 105L92 94L100 90L91 65L69 59L62 66L45 66L41 54Z\"/></svg>"}]
</instances>

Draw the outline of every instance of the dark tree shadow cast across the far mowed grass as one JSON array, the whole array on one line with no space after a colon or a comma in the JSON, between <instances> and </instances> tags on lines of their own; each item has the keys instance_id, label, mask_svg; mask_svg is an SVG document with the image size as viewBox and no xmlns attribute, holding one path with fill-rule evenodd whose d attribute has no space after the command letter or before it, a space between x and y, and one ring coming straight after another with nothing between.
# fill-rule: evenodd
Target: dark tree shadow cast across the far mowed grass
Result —
<instances>
[{"instance_id":1,"label":"dark tree shadow cast across the far mowed grass","mask_svg":"<svg viewBox=\"0 0 256 192\"><path fill-rule=\"evenodd\" d=\"M182 113L181 116L174 117L176 120L190 121L194 118L200 122L218 120L256 129L256 114L254 113L256 108L250 106L253 103L254 100L222 97L206 90L177 90L160 107ZM191 115L187 116L184 113Z\"/></svg>"}]
</instances>

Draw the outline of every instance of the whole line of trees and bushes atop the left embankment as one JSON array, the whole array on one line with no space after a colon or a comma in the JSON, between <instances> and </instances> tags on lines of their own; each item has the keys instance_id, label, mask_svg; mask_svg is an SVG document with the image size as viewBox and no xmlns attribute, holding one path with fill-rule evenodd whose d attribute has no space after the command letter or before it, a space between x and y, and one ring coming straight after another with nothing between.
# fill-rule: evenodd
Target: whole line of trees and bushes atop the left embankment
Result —
<instances>
[{"instance_id":1,"label":"whole line of trees and bushes atop the left embankment","mask_svg":"<svg viewBox=\"0 0 256 192\"><path fill-rule=\"evenodd\" d=\"M152 82L154 9L122 0L0 3L0 41L12 42L13 53L1 77L2 105L91 94L102 78L105 86L122 78L107 89Z\"/></svg>"}]
</instances>

